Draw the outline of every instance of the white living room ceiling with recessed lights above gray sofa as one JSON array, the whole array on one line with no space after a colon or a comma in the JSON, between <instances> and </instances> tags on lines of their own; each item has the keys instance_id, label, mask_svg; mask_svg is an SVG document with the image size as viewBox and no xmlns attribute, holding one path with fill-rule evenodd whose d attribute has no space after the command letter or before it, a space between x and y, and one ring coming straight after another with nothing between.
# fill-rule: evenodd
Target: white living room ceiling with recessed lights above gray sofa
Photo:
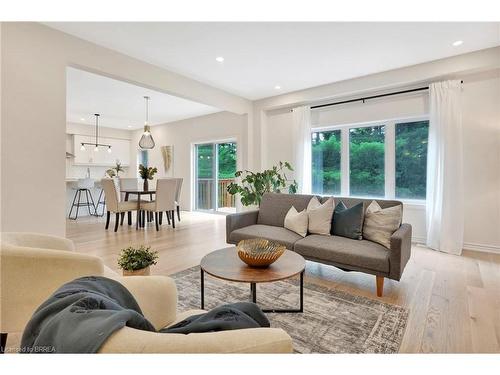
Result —
<instances>
[{"instance_id":1,"label":"white living room ceiling with recessed lights above gray sofa","mask_svg":"<svg viewBox=\"0 0 500 375\"><path fill-rule=\"evenodd\" d=\"M500 23L47 25L252 100L500 45Z\"/></svg>"}]
</instances>

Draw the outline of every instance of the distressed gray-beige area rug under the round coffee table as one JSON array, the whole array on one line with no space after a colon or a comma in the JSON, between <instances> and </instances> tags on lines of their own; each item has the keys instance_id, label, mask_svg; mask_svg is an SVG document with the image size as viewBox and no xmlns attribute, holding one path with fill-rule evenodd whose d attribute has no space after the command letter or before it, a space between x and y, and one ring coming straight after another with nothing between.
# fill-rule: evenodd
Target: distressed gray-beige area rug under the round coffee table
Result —
<instances>
[{"instance_id":1,"label":"distressed gray-beige area rug under the round coffee table","mask_svg":"<svg viewBox=\"0 0 500 375\"><path fill-rule=\"evenodd\" d=\"M200 308L200 268L172 276L179 293L179 309ZM268 313L271 327L283 328L297 353L397 353L406 323L405 308L356 296L304 281L303 313ZM216 279L205 274L205 309L248 301L249 284ZM299 306L299 281L289 279L257 285L263 309Z\"/></svg>"}]
</instances>

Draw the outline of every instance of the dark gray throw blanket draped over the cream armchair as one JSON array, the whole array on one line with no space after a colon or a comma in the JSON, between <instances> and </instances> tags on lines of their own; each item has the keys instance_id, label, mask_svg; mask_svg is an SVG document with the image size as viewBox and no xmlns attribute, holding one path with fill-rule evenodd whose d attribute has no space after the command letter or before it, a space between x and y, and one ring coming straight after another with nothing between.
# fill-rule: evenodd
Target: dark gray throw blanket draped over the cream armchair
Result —
<instances>
[{"instance_id":1,"label":"dark gray throw blanket draped over the cream armchair","mask_svg":"<svg viewBox=\"0 0 500 375\"><path fill-rule=\"evenodd\" d=\"M21 352L96 353L124 326L156 331L122 284L100 276L82 277L63 285L35 311L23 332ZM188 334L269 326L257 305L240 302L189 317L159 332Z\"/></svg>"}]
</instances>

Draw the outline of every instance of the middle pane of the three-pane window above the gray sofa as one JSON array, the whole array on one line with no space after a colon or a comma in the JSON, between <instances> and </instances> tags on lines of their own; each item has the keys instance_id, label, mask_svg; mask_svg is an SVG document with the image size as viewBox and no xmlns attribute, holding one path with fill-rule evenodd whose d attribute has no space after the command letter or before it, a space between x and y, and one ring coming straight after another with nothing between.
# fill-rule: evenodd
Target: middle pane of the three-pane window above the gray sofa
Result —
<instances>
[{"instance_id":1,"label":"middle pane of the three-pane window above the gray sofa","mask_svg":"<svg viewBox=\"0 0 500 375\"><path fill-rule=\"evenodd\" d=\"M385 126L349 129L349 191L355 196L383 197Z\"/></svg>"}]
</instances>

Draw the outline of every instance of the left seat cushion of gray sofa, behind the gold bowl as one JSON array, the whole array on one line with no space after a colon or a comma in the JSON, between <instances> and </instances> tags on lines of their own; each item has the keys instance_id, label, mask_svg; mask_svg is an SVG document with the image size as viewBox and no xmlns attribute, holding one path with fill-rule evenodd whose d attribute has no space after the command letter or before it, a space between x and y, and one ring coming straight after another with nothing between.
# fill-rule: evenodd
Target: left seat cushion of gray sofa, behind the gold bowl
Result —
<instances>
[{"instance_id":1,"label":"left seat cushion of gray sofa, behind the gold bowl","mask_svg":"<svg viewBox=\"0 0 500 375\"><path fill-rule=\"evenodd\" d=\"M234 243L249 238L265 238L285 245L288 250L293 250L293 244L302 237L286 228L262 224L236 229L229 235L229 240Z\"/></svg>"}]
</instances>

